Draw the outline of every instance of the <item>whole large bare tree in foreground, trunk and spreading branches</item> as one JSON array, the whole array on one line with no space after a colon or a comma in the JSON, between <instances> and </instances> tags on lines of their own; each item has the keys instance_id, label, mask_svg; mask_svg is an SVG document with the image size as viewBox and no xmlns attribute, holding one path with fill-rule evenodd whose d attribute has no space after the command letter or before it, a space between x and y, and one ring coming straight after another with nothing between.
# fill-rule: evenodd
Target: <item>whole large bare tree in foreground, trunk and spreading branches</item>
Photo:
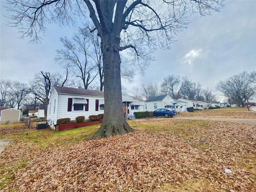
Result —
<instances>
[{"instance_id":1,"label":"whole large bare tree in foreground, trunk and spreading branches","mask_svg":"<svg viewBox=\"0 0 256 192\"><path fill-rule=\"evenodd\" d=\"M46 22L76 24L87 22L86 10L101 38L104 72L104 119L96 137L111 137L132 132L122 111L120 51L134 56L138 69L147 65L156 46L170 48L174 36L186 28L187 13L208 15L218 11L223 0L34 0L17 1L9 10L14 26L23 29L23 37L38 40ZM75 16L76 15L76 16ZM25 30L24 30L25 29ZM93 29L94 30L94 29ZM93 31L92 30L92 31Z\"/></svg>"}]
</instances>

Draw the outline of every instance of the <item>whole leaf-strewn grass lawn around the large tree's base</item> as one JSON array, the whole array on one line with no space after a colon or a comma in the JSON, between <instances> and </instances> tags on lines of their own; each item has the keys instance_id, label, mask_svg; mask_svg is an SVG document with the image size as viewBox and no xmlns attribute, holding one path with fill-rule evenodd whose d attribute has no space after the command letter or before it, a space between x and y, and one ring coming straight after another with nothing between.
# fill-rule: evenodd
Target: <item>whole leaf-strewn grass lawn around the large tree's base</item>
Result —
<instances>
[{"instance_id":1,"label":"whole leaf-strewn grass lawn around the large tree's base","mask_svg":"<svg viewBox=\"0 0 256 192\"><path fill-rule=\"evenodd\" d=\"M186 115L248 118L247 108L216 111ZM256 190L255 125L175 117L128 123L135 132L91 141L99 125L54 132L1 124L0 139L12 140L0 155L0 190Z\"/></svg>"}]
</instances>

